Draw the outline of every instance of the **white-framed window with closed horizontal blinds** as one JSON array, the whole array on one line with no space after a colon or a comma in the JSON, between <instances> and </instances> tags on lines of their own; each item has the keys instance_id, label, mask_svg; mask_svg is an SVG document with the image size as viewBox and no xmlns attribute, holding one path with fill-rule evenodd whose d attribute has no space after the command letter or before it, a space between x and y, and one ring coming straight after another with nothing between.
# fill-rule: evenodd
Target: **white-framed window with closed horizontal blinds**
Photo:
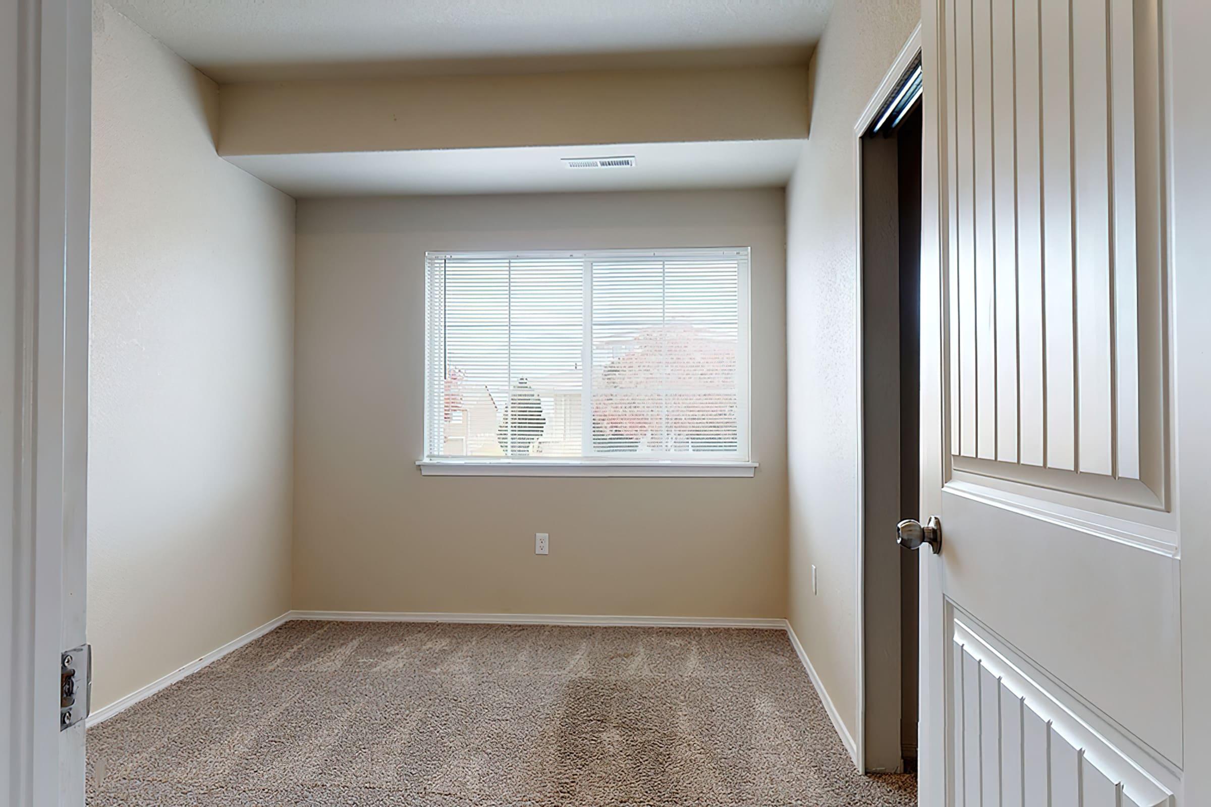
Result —
<instances>
[{"instance_id":1,"label":"white-framed window with closed horizontal blinds","mask_svg":"<svg viewBox=\"0 0 1211 807\"><path fill-rule=\"evenodd\" d=\"M752 473L748 249L429 253L426 279L426 473Z\"/></svg>"}]
</instances>

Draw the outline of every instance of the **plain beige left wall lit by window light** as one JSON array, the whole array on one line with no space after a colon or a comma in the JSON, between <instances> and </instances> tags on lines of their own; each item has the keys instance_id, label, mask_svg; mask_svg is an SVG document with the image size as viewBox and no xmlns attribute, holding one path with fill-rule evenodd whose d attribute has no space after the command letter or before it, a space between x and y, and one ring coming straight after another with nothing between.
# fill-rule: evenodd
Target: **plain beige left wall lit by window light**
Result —
<instances>
[{"instance_id":1,"label":"plain beige left wall lit by window light","mask_svg":"<svg viewBox=\"0 0 1211 807\"><path fill-rule=\"evenodd\" d=\"M94 13L94 708L289 607L294 202L220 160L217 86Z\"/></svg>"}]
</instances>

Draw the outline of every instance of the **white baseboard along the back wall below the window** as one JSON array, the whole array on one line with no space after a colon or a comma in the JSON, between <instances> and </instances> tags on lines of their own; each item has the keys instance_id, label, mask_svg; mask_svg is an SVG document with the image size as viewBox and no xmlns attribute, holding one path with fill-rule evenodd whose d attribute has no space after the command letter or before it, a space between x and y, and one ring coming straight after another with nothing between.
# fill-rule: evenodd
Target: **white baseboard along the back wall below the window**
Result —
<instances>
[{"instance_id":1,"label":"white baseboard along the back wall below the window","mask_svg":"<svg viewBox=\"0 0 1211 807\"><path fill-rule=\"evenodd\" d=\"M291 619L325 622L457 622L466 624L553 624L616 628L763 628L782 630L786 619L748 617L644 617L568 613L447 613L424 611L291 611Z\"/></svg>"}]
</instances>

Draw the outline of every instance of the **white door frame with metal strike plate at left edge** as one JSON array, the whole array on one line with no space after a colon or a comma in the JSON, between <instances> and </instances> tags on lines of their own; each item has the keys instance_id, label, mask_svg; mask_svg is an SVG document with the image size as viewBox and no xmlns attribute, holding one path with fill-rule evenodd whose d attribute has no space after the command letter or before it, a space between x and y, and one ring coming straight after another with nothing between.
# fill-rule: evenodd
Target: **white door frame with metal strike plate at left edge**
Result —
<instances>
[{"instance_id":1,"label":"white door frame with metal strike plate at left edge","mask_svg":"<svg viewBox=\"0 0 1211 807\"><path fill-rule=\"evenodd\" d=\"M0 578L4 805L84 805L84 721L59 731L59 656L85 641L92 8L16 0L2 12L0 463L12 520ZM10 213L11 206L11 215ZM7 235L7 234L6 234ZM6 501L6 503L8 503Z\"/></svg>"}]
</instances>

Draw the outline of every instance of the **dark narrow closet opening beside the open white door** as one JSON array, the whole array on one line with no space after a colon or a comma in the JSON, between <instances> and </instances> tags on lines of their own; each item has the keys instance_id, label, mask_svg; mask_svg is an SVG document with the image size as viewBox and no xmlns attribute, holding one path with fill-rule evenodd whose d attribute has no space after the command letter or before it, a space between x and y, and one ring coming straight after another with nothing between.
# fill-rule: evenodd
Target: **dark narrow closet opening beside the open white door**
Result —
<instances>
[{"instance_id":1,"label":"dark narrow closet opening beside the open white door","mask_svg":"<svg viewBox=\"0 0 1211 807\"><path fill-rule=\"evenodd\" d=\"M861 140L868 771L913 771L917 762L919 554L895 540L896 523L919 515L922 113L914 76L917 65Z\"/></svg>"}]
</instances>

